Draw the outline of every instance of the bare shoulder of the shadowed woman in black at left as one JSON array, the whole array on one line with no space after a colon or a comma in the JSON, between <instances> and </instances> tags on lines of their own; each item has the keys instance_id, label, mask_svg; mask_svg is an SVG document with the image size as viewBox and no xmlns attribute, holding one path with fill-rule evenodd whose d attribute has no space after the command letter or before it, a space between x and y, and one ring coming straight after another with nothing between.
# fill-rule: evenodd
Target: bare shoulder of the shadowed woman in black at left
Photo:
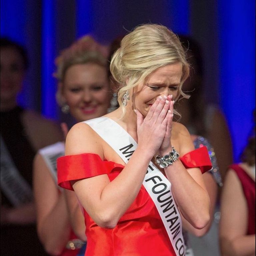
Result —
<instances>
[{"instance_id":1,"label":"bare shoulder of the shadowed woman in black at left","mask_svg":"<svg viewBox=\"0 0 256 256\"><path fill-rule=\"evenodd\" d=\"M23 123L35 150L63 140L59 125L35 111L26 110L23 115Z\"/></svg>"}]
</instances>

